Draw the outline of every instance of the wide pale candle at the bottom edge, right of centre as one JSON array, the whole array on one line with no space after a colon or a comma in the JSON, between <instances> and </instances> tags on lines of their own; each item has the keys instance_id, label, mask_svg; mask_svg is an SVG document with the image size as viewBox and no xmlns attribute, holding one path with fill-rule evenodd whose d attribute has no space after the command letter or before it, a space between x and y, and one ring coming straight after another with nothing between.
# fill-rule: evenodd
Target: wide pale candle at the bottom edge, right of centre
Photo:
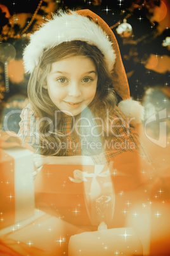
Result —
<instances>
[{"instance_id":1,"label":"wide pale candle at the bottom edge, right of centre","mask_svg":"<svg viewBox=\"0 0 170 256\"><path fill-rule=\"evenodd\" d=\"M143 248L133 228L105 229L71 236L68 255L140 256L143 255Z\"/></svg>"}]
</instances>

